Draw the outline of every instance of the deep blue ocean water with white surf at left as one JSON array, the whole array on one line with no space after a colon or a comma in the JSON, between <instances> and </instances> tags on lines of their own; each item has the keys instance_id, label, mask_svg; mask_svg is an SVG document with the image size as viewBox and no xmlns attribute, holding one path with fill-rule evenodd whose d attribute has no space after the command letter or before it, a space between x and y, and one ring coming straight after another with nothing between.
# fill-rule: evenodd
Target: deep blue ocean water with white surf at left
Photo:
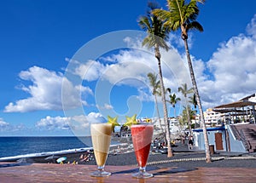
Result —
<instances>
[{"instance_id":1,"label":"deep blue ocean water with white surf at left","mask_svg":"<svg viewBox=\"0 0 256 183\"><path fill-rule=\"evenodd\" d=\"M90 137L0 137L0 160L76 152L90 147Z\"/></svg>"}]
</instances>

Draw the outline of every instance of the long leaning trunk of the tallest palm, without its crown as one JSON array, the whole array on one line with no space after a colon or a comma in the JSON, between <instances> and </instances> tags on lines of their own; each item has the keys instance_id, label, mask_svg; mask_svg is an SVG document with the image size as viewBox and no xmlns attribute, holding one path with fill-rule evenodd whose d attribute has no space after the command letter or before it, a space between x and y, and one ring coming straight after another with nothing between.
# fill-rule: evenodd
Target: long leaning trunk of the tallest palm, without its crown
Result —
<instances>
[{"instance_id":1,"label":"long leaning trunk of the tallest palm, without its crown","mask_svg":"<svg viewBox=\"0 0 256 183\"><path fill-rule=\"evenodd\" d=\"M201 124L202 124L202 129L203 129L203 134L204 134L204 139L205 139L205 146L206 146L207 163L210 163L210 162L212 162L212 159L211 159L211 154L210 154L205 117L204 117L204 113L202 111L200 95L199 95L197 85L196 85L196 82L195 82L195 74L194 74L192 62L191 62L191 59L190 59L188 41L187 41L187 39L183 39L183 41L184 41L184 44L185 44L185 50L186 50L187 59L188 59L190 77L191 77L193 89L194 89L194 92L195 92L195 97L196 97L196 100L197 100L198 109L200 111L200 116L201 116Z\"/></svg>"}]
</instances>

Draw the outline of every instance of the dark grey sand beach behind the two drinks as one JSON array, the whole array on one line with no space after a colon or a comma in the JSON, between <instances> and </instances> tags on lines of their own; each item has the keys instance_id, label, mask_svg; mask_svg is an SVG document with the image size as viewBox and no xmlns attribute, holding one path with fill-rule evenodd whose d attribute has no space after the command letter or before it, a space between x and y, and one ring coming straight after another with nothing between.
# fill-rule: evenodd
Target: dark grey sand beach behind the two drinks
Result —
<instances>
[{"instance_id":1,"label":"dark grey sand beach behind the two drinks","mask_svg":"<svg viewBox=\"0 0 256 183\"><path fill-rule=\"evenodd\" d=\"M116 147L114 147L116 148ZM205 152L189 151L186 145L177 144L172 147L174 157L167 157L160 152L151 152L148 157L148 167L219 167L219 168L256 168L256 153L230 153L216 152L212 154L212 163L206 163ZM91 153L89 161L81 161L81 155L86 152L74 152L58 155L58 157L67 157L65 163L90 164L96 165L94 155ZM55 163L55 159L45 160L45 157L32 157L21 160L21 163ZM137 166L137 161L132 148L125 148L116 153L112 149L108 155L106 166L108 165L131 165Z\"/></svg>"}]
</instances>

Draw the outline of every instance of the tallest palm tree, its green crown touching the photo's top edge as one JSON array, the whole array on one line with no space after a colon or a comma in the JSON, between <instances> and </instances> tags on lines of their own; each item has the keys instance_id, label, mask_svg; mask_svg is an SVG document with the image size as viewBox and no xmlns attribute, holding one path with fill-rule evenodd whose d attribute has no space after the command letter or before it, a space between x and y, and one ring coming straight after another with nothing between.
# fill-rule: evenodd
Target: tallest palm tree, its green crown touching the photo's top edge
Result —
<instances>
[{"instance_id":1,"label":"tallest palm tree, its green crown touching the photo's top edge","mask_svg":"<svg viewBox=\"0 0 256 183\"><path fill-rule=\"evenodd\" d=\"M197 84L195 81L195 74L193 71L192 61L189 54L189 45L188 45L188 31L189 30L198 30L203 31L203 27L201 24L196 21L196 18L199 14L199 8L197 3L204 3L205 0L190 0L189 3L185 0L167 0L168 3L168 11L164 9L155 9L154 15L158 16L161 20L165 20L164 26L168 26L168 28L172 31L181 30L181 37L184 42L187 60L189 65L190 77L195 93L195 97L198 103L198 108L201 115L201 124L205 139L206 146L206 157L207 163L212 162L209 141L207 135L207 127L205 123L205 118L202 111L201 99L197 89Z\"/></svg>"}]
</instances>

